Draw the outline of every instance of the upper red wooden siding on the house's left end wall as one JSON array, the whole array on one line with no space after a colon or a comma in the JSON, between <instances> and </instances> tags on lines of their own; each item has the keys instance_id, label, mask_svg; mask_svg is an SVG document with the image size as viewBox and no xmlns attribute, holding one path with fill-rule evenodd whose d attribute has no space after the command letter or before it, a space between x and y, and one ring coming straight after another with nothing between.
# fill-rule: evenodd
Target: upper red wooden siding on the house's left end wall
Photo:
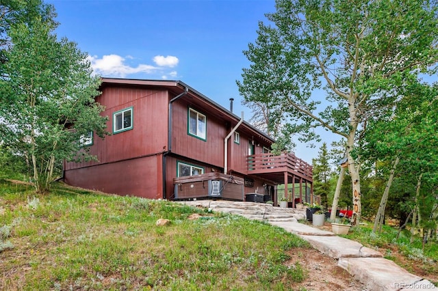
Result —
<instances>
[{"instance_id":1,"label":"upper red wooden siding on the house's left end wall","mask_svg":"<svg viewBox=\"0 0 438 291\"><path fill-rule=\"evenodd\" d=\"M105 107L108 116L107 131L113 130L113 113L133 108L133 129L106 136L94 135L90 153L99 162L66 163L66 170L89 167L101 163L114 163L130 158L163 152L167 147L168 92L157 89L104 87L96 99Z\"/></svg>"}]
</instances>

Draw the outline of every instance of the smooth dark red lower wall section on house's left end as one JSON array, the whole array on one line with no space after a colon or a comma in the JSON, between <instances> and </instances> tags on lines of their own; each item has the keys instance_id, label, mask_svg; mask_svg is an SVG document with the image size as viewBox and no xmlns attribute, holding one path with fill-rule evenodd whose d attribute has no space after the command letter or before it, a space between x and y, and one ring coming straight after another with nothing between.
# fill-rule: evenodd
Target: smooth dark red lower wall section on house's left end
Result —
<instances>
[{"instance_id":1,"label":"smooth dark red lower wall section on house's left end","mask_svg":"<svg viewBox=\"0 0 438 291\"><path fill-rule=\"evenodd\" d=\"M118 195L163 198L162 155L94 165L64 173L67 184Z\"/></svg>"}]
</instances>

